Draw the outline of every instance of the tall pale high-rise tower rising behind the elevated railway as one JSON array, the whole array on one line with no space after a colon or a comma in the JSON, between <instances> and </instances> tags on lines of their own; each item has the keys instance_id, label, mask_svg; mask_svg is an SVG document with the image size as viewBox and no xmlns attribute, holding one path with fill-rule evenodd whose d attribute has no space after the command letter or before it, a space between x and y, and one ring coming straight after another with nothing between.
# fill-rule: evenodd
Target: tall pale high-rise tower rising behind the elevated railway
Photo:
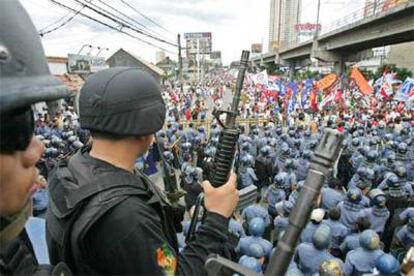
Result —
<instances>
[{"instance_id":1,"label":"tall pale high-rise tower rising behind the elevated railway","mask_svg":"<svg viewBox=\"0 0 414 276\"><path fill-rule=\"evenodd\" d=\"M301 0L270 0L269 51L297 44Z\"/></svg>"}]
</instances>

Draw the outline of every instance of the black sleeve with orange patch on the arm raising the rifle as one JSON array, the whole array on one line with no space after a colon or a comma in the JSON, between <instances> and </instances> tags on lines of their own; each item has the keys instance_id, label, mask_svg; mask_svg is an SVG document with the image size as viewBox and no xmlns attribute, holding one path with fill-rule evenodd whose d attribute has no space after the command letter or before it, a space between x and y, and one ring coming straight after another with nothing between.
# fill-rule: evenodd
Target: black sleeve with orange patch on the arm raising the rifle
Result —
<instances>
[{"instance_id":1,"label":"black sleeve with orange patch on the arm raising the rifle","mask_svg":"<svg viewBox=\"0 0 414 276\"><path fill-rule=\"evenodd\" d=\"M228 238L228 219L207 213L195 240L177 255L154 209L133 199L122 205L95 224L85 245L88 263L102 275L203 275L207 256L221 253Z\"/></svg>"}]
</instances>

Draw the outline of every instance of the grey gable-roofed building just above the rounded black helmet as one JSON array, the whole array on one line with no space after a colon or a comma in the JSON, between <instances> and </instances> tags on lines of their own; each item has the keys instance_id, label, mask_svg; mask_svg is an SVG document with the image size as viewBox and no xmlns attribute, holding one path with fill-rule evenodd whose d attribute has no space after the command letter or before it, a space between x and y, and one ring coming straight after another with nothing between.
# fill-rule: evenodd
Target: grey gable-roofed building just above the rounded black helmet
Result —
<instances>
[{"instance_id":1,"label":"grey gable-roofed building just above the rounded black helmet","mask_svg":"<svg viewBox=\"0 0 414 276\"><path fill-rule=\"evenodd\" d=\"M162 77L164 75L164 71L161 68L145 61L144 59L130 52L127 52L122 48L110 56L106 60L106 63L109 65L109 67L127 66L141 68L150 73L159 83L161 83Z\"/></svg>"}]
</instances>

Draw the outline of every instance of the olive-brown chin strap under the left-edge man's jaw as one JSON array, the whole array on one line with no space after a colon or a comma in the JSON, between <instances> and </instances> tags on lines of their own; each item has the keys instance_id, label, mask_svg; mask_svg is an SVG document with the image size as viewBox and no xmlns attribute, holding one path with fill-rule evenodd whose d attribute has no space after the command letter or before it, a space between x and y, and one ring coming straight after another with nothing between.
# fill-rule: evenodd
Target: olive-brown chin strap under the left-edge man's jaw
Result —
<instances>
[{"instance_id":1,"label":"olive-brown chin strap under the left-edge man's jaw","mask_svg":"<svg viewBox=\"0 0 414 276\"><path fill-rule=\"evenodd\" d=\"M11 217L1 218L1 220L7 221L8 224L0 230L0 246L6 245L20 234L31 214L32 201L29 200L19 213Z\"/></svg>"}]
</instances>

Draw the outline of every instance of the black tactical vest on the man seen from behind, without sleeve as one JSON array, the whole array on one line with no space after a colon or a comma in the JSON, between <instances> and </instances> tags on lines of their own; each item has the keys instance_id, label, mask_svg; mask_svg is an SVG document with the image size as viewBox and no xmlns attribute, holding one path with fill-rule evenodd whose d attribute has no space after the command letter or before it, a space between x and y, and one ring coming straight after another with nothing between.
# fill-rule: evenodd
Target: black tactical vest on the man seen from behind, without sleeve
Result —
<instances>
[{"instance_id":1,"label":"black tactical vest on the man seen from behind, without sleeve","mask_svg":"<svg viewBox=\"0 0 414 276\"><path fill-rule=\"evenodd\" d=\"M64 261L76 274L97 274L84 262L83 241L99 218L132 196L157 211L171 248L178 251L173 209L150 180L85 163L82 153L87 150L82 148L68 161L61 160L49 178L46 240L51 263Z\"/></svg>"}]
</instances>

